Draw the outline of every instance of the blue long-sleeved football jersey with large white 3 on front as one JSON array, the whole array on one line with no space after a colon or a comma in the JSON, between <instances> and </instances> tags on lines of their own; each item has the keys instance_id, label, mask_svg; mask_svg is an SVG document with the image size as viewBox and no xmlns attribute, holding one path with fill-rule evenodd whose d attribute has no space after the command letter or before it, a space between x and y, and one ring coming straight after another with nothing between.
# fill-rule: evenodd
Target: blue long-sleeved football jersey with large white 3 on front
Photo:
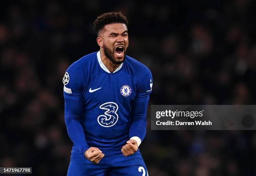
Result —
<instances>
[{"instance_id":1,"label":"blue long-sleeved football jersey with large white 3 on front","mask_svg":"<svg viewBox=\"0 0 256 176\"><path fill-rule=\"evenodd\" d=\"M125 56L118 69L110 73L98 51L69 66L63 83L65 102L68 102L65 104L65 122L69 136L73 138L73 155L81 156L81 151L83 154L89 147L97 147L103 153L121 152L131 137L143 140L146 133L145 106L153 84L151 71L145 65ZM69 107L74 113L79 113L74 114ZM81 125L72 128L74 123L68 121L71 118ZM136 120L137 124L133 125ZM79 128L82 134L79 134ZM72 134L74 130L77 133Z\"/></svg>"}]
</instances>

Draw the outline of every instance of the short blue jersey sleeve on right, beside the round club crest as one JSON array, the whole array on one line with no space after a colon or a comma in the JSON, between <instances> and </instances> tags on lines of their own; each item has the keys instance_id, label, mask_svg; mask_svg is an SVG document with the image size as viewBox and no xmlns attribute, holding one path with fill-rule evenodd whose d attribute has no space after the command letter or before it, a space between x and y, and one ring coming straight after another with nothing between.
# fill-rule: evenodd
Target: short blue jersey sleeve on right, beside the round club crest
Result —
<instances>
[{"instance_id":1,"label":"short blue jersey sleeve on right, beside the round club crest","mask_svg":"<svg viewBox=\"0 0 256 176\"><path fill-rule=\"evenodd\" d=\"M152 92L153 77L151 71L146 68L146 73L138 79L137 102L146 102L149 100L149 94Z\"/></svg>"}]
</instances>

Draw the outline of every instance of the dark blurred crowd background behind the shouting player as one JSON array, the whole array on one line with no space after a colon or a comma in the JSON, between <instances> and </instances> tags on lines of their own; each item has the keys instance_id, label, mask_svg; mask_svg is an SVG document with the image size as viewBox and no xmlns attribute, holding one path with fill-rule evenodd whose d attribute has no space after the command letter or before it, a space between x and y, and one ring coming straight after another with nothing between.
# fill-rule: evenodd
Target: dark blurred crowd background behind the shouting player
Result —
<instances>
[{"instance_id":1,"label":"dark blurred crowd background behind the shouting player","mask_svg":"<svg viewBox=\"0 0 256 176\"><path fill-rule=\"evenodd\" d=\"M256 104L256 1L16 0L0 5L0 166L67 174L67 67L99 50L95 18L122 11L128 55L154 77L151 176L256 176L255 131L151 131L150 105ZM15 174L16 175L16 174Z\"/></svg>"}]
</instances>

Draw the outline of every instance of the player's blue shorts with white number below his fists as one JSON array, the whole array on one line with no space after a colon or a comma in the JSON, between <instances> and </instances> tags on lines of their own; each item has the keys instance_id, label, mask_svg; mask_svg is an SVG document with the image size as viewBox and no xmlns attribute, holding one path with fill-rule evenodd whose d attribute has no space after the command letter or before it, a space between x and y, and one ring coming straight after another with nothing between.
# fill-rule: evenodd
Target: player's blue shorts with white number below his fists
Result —
<instances>
[{"instance_id":1,"label":"player's blue shorts with white number below his fists","mask_svg":"<svg viewBox=\"0 0 256 176\"><path fill-rule=\"evenodd\" d=\"M141 153L103 157L98 164L84 157L71 158L67 176L148 176Z\"/></svg>"}]
</instances>

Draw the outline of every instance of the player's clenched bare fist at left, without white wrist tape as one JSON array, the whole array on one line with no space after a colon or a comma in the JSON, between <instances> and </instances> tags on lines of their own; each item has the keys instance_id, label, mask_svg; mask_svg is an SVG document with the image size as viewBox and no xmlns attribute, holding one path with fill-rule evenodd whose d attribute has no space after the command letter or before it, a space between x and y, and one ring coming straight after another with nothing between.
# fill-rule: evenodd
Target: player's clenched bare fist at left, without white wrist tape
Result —
<instances>
[{"instance_id":1,"label":"player's clenched bare fist at left, without white wrist tape","mask_svg":"<svg viewBox=\"0 0 256 176\"><path fill-rule=\"evenodd\" d=\"M88 150L84 152L84 156L85 158L87 158L87 160L97 164L105 155L102 153L102 151L100 151L99 148L90 147Z\"/></svg>"}]
</instances>

